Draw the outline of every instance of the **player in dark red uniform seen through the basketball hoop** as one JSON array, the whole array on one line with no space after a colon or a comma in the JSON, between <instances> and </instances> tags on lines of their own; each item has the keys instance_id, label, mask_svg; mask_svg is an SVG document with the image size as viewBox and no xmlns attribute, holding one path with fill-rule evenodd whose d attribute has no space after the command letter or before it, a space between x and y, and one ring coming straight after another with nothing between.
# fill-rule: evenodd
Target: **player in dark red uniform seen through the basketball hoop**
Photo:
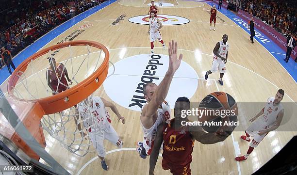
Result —
<instances>
[{"instance_id":1,"label":"player in dark red uniform seen through the basketball hoop","mask_svg":"<svg viewBox=\"0 0 297 175\"><path fill-rule=\"evenodd\" d=\"M49 88L52 91L52 95L66 91L68 89L68 82L72 84L72 81L68 77L68 72L64 64L56 63L54 58L49 58L49 68L46 72ZM67 80L66 80L66 78Z\"/></svg>"}]
</instances>

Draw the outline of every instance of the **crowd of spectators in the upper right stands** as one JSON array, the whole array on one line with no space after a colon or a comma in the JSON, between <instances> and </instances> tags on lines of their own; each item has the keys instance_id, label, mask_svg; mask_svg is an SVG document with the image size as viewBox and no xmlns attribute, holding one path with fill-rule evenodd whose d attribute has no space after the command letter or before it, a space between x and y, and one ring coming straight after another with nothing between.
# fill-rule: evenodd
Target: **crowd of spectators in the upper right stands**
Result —
<instances>
[{"instance_id":1,"label":"crowd of spectators in the upper right stands","mask_svg":"<svg viewBox=\"0 0 297 175\"><path fill-rule=\"evenodd\" d=\"M241 9L285 36L297 34L296 0L241 0Z\"/></svg>"}]
</instances>

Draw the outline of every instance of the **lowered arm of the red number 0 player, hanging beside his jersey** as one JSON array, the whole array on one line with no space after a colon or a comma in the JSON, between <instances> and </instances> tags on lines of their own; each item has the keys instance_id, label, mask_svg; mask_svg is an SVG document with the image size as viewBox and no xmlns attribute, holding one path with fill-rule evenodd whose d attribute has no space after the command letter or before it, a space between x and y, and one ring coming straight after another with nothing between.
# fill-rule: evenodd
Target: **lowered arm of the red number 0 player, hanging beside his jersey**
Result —
<instances>
[{"instance_id":1,"label":"lowered arm of the red number 0 player, hanging beside his jersey","mask_svg":"<svg viewBox=\"0 0 297 175\"><path fill-rule=\"evenodd\" d=\"M159 151L163 142L163 128L165 123L159 125L157 128L157 135L154 141L154 147L149 156L149 175L154 175L155 166L159 157Z\"/></svg>"}]
</instances>

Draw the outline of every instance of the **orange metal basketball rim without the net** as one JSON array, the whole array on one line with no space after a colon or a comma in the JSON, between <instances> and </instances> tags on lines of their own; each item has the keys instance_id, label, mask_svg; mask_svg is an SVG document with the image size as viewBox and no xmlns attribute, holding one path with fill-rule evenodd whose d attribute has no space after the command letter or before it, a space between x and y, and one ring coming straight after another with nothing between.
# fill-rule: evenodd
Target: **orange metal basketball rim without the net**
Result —
<instances>
[{"instance_id":1,"label":"orange metal basketball rim without the net","mask_svg":"<svg viewBox=\"0 0 297 175\"><path fill-rule=\"evenodd\" d=\"M46 54L49 51L57 50L60 48L72 47L72 46L90 46L103 50L105 53L105 58L101 66L88 78L80 82L79 84L67 89L62 93L58 93L57 95L48 96L41 99L30 100L35 103L36 106L40 106L44 114L51 114L59 111L66 110L79 102L85 99L87 96L91 95L95 90L99 88L99 86L105 80L108 73L108 61L109 61L109 52L105 46L100 43L94 41L69 41L60 43L49 48L44 48L29 58L27 58L24 62L22 62L19 66L16 67L16 70L11 75L8 80L7 92L8 94L15 99L16 101L22 101L24 99L20 99L14 95L14 88L16 86L17 81L20 78L20 75L23 74L28 64L35 60L36 58ZM26 100L27 101L27 100ZM36 108L36 107L34 107Z\"/></svg>"}]
</instances>

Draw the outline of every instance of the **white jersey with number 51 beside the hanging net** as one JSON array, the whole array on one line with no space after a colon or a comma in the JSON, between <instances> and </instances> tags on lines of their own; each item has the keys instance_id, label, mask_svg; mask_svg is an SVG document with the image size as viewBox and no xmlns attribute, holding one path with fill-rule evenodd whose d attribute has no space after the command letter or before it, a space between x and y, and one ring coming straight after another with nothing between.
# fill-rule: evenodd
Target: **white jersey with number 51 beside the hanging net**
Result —
<instances>
[{"instance_id":1,"label":"white jersey with number 51 beside the hanging net","mask_svg":"<svg viewBox=\"0 0 297 175\"><path fill-rule=\"evenodd\" d=\"M89 132L99 132L107 128L110 123L110 115L99 96L92 98L92 104L87 106L81 102L78 111L83 121L83 126Z\"/></svg>"}]
</instances>

